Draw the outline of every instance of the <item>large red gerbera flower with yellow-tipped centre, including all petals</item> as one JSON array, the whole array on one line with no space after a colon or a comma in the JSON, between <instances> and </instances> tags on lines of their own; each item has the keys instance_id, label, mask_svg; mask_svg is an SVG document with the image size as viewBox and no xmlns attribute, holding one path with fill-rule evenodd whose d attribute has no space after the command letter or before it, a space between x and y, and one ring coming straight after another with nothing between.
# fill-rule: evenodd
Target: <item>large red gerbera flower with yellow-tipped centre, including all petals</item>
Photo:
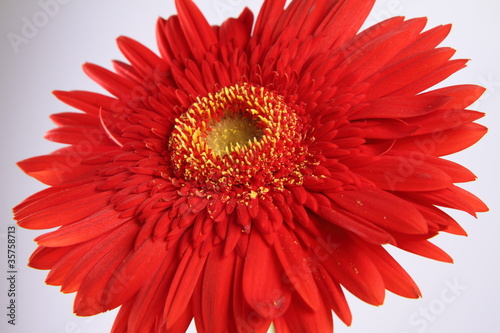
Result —
<instances>
[{"instance_id":1,"label":"large red gerbera flower with yellow-tipped centre, including all petals","mask_svg":"<svg viewBox=\"0 0 500 333\"><path fill-rule=\"evenodd\" d=\"M428 239L465 235L440 207L486 211L443 159L486 129L483 88L427 91L463 68L450 30L396 17L357 33L374 1L266 0L209 26L190 0L158 22L160 56L85 72L114 97L55 95L69 144L19 163L50 187L15 208L30 266L77 292L74 311L121 306L113 332L332 332L344 287L382 304L420 292L383 245L451 261Z\"/></svg>"}]
</instances>

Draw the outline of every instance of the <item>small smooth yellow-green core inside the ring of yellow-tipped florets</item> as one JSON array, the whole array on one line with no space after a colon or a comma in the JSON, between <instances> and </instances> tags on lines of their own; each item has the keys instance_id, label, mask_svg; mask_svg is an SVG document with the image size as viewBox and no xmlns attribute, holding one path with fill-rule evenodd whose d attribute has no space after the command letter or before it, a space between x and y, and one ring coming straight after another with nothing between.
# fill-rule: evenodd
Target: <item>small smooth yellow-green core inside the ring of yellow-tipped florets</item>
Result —
<instances>
[{"instance_id":1,"label":"small smooth yellow-green core inside the ring of yellow-tipped florets","mask_svg":"<svg viewBox=\"0 0 500 333\"><path fill-rule=\"evenodd\" d=\"M242 115L226 116L210 127L206 142L218 156L239 151L262 138L256 121Z\"/></svg>"}]
</instances>

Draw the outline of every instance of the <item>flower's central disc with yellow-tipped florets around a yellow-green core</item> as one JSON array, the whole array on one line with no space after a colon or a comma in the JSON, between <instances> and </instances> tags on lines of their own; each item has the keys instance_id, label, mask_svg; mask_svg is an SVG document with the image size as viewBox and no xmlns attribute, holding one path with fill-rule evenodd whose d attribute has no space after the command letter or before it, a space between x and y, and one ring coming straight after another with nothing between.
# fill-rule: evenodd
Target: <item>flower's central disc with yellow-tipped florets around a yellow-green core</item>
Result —
<instances>
[{"instance_id":1,"label":"flower's central disc with yellow-tipped florets around a yellow-green core","mask_svg":"<svg viewBox=\"0 0 500 333\"><path fill-rule=\"evenodd\" d=\"M247 83L199 97L170 136L173 173L246 199L300 185L310 155L303 117L299 106Z\"/></svg>"}]
</instances>

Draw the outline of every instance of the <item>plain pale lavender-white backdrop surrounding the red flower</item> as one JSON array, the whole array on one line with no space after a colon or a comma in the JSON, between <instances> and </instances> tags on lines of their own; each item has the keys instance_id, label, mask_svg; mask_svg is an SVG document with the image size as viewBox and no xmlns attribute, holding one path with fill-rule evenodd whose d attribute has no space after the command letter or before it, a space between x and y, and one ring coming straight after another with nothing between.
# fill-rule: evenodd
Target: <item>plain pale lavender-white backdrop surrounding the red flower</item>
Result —
<instances>
[{"instance_id":1,"label":"plain pale lavender-white backdrop surrounding the red flower","mask_svg":"<svg viewBox=\"0 0 500 333\"><path fill-rule=\"evenodd\" d=\"M49 2L50 0L41 0ZM244 6L255 11L257 0L195 1L213 24L236 16ZM42 139L51 129L48 116L69 111L52 95L54 89L100 89L81 71L84 62L110 67L111 59L123 59L114 39L127 35L156 50L158 16L174 14L173 0L59 0L52 15L44 14L38 0L1 0L0 3L0 330L2 332L99 333L109 332L115 312L92 318L72 314L73 295L44 285L45 271L26 267L39 234L17 230L17 318L7 325L6 233L13 225L11 209L43 185L25 176L15 162L54 150L57 145ZM472 59L468 68L446 81L447 85L475 83L488 88L474 105L487 113L481 122L489 134L473 148L453 156L479 177L466 188L483 198L491 212L475 220L454 216L468 238L439 236L435 242L455 259L455 264L433 262L399 251L394 255L419 284L424 297L408 300L388 294L386 304L372 307L350 297L354 315L351 327L336 319L336 332L345 333L469 333L500 332L500 219L497 189L500 178L500 5L495 0L380 0L370 23L390 16L429 17L429 26L453 23L446 46L458 49L457 57ZM26 43L13 46L9 33L22 36L26 21L38 23ZM25 31L26 33L26 31ZM449 284L459 285L458 290ZM425 317L424 312L429 315ZM193 331L194 332L194 331Z\"/></svg>"}]
</instances>

